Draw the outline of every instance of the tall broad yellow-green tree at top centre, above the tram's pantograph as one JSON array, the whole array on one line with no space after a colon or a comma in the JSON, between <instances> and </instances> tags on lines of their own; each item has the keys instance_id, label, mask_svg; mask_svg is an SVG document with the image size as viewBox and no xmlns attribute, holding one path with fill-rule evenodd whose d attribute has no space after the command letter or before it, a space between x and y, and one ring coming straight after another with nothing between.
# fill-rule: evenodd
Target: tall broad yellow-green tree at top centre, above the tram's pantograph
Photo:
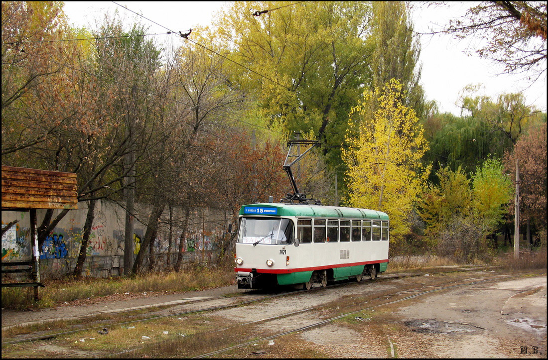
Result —
<instances>
[{"instance_id":1,"label":"tall broad yellow-green tree at top centre, above the tram's pantograph","mask_svg":"<svg viewBox=\"0 0 548 360\"><path fill-rule=\"evenodd\" d=\"M313 132L339 163L347 115L370 84L367 2L305 2L253 16L277 2L235 2L219 21L231 45L233 81L254 91L262 115L288 134ZM333 147L329 147L333 146Z\"/></svg>"}]
</instances>

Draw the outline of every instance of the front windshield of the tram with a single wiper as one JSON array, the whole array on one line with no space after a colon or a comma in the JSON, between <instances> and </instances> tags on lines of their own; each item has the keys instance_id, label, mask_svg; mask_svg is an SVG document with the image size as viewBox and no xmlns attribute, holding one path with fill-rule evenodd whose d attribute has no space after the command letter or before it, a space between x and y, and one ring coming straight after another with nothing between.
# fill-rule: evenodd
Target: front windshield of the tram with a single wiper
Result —
<instances>
[{"instance_id":1,"label":"front windshield of the tram with a single wiper","mask_svg":"<svg viewBox=\"0 0 548 360\"><path fill-rule=\"evenodd\" d=\"M242 218L238 243L292 244L293 221L289 219Z\"/></svg>"}]
</instances>

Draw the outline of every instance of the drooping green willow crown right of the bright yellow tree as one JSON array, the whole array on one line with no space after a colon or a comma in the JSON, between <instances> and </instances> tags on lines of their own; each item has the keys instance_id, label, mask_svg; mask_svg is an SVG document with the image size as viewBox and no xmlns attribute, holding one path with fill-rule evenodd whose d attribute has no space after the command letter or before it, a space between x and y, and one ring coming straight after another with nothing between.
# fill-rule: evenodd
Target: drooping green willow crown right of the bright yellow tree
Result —
<instances>
[{"instance_id":1,"label":"drooping green willow crown right of the bright yellow tree","mask_svg":"<svg viewBox=\"0 0 548 360\"><path fill-rule=\"evenodd\" d=\"M522 94L500 94L498 98L477 95L478 85L463 89L461 116L433 112L425 122L430 151L424 161L435 170L449 165L475 173L488 155L501 158L511 151L528 127L543 123L545 114L528 106ZM431 177L431 181L436 181Z\"/></svg>"}]
</instances>

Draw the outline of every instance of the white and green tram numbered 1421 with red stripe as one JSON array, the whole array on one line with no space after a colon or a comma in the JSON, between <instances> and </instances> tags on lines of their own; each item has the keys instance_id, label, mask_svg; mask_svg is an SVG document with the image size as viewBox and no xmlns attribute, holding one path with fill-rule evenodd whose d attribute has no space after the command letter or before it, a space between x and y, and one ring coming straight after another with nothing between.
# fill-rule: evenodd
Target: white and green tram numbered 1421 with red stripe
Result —
<instances>
[{"instance_id":1,"label":"white and green tram numbered 1421 with red stripe","mask_svg":"<svg viewBox=\"0 0 548 360\"><path fill-rule=\"evenodd\" d=\"M368 209L292 203L243 205L238 288L376 278L388 265L389 217Z\"/></svg>"}]
</instances>

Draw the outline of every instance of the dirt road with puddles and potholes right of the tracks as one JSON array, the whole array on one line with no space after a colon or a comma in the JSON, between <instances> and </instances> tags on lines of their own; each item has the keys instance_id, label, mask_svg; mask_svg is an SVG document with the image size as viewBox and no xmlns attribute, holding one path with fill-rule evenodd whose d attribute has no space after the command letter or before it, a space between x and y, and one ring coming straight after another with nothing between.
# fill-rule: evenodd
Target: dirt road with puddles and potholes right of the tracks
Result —
<instances>
[{"instance_id":1,"label":"dirt road with puddles and potholes right of the tracks","mask_svg":"<svg viewBox=\"0 0 548 360\"><path fill-rule=\"evenodd\" d=\"M381 290L379 284L370 288ZM275 311L294 310L293 305ZM246 318L254 315L254 308L246 307ZM369 315L350 326L332 322L299 336L331 358L546 358L545 276L442 290ZM307 321L298 315L265 326L284 330L288 323L297 327ZM292 357L282 345L260 350L262 357Z\"/></svg>"}]
</instances>

